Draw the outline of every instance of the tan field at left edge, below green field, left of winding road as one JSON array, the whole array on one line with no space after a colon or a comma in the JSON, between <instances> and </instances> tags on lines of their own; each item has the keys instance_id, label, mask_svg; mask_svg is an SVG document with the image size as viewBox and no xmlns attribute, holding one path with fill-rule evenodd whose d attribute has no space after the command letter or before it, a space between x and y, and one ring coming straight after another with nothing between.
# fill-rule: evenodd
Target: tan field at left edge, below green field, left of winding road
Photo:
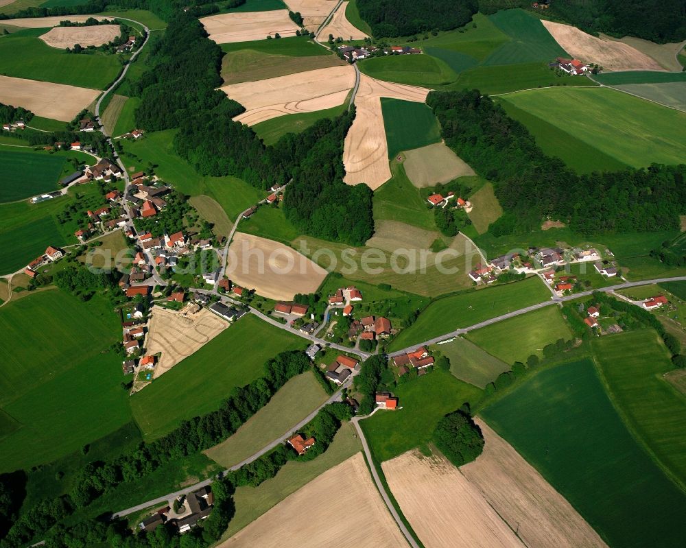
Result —
<instances>
[{"instance_id":1,"label":"tan field at left edge, below green field, left of winding road","mask_svg":"<svg viewBox=\"0 0 686 548\"><path fill-rule=\"evenodd\" d=\"M64 122L73 120L99 94L95 89L0 76L0 103L23 106L36 116Z\"/></svg>"}]
</instances>

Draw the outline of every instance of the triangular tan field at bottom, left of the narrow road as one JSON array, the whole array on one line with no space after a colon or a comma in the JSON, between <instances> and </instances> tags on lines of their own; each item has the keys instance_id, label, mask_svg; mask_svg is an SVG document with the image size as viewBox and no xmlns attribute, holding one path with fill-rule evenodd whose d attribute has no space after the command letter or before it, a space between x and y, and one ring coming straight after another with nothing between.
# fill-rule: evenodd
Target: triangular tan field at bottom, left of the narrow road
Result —
<instances>
[{"instance_id":1,"label":"triangular tan field at bottom, left of the narrow road","mask_svg":"<svg viewBox=\"0 0 686 548\"><path fill-rule=\"evenodd\" d=\"M219 548L397 548L407 546L362 453L327 470Z\"/></svg>"}]
</instances>

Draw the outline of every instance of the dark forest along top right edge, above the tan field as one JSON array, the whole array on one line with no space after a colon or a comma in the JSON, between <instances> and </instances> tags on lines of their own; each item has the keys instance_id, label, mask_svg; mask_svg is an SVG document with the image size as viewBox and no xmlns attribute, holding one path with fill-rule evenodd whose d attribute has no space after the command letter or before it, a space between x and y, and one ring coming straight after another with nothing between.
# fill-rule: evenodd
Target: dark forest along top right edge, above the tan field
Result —
<instances>
[{"instance_id":1,"label":"dark forest along top right edge, above the tan field","mask_svg":"<svg viewBox=\"0 0 686 548\"><path fill-rule=\"evenodd\" d=\"M548 0L545 16L575 25L590 34L637 36L644 40L681 42L686 39L683 0ZM510 8L530 8L530 0L480 0L486 14Z\"/></svg>"}]
</instances>

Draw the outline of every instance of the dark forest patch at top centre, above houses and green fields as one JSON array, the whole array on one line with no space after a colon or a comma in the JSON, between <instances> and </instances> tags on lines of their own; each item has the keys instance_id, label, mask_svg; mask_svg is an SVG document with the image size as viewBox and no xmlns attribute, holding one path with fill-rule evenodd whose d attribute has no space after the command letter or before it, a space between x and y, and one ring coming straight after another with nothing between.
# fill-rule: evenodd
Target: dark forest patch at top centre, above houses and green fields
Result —
<instances>
[{"instance_id":1,"label":"dark forest patch at top centre, above houses and green fields","mask_svg":"<svg viewBox=\"0 0 686 548\"><path fill-rule=\"evenodd\" d=\"M375 38L451 30L471 21L477 0L357 0Z\"/></svg>"}]
</instances>

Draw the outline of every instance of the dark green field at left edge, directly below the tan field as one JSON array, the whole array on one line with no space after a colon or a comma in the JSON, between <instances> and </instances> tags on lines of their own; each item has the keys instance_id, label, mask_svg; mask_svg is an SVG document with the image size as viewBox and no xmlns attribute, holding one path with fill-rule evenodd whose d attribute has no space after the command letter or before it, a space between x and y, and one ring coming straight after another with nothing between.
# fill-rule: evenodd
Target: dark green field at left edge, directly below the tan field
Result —
<instances>
[{"instance_id":1,"label":"dark green field at left edge, directly below the tan field","mask_svg":"<svg viewBox=\"0 0 686 548\"><path fill-rule=\"evenodd\" d=\"M30 149L29 149L30 151ZM59 188L57 181L67 161L61 154L40 154L0 147L0 202L14 202Z\"/></svg>"}]
</instances>

